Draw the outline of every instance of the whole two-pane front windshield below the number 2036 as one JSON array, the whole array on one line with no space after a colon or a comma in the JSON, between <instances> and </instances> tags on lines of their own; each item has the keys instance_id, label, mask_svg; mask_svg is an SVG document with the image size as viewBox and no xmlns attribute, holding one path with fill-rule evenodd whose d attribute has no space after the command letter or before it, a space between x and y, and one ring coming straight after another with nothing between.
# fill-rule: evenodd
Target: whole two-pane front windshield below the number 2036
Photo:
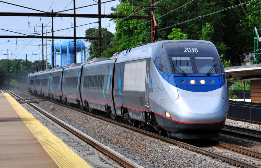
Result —
<instances>
[{"instance_id":1,"label":"whole two-pane front windshield below the number 2036","mask_svg":"<svg viewBox=\"0 0 261 168\"><path fill-rule=\"evenodd\" d=\"M213 56L172 55L172 67L175 74L216 74Z\"/></svg>"}]
</instances>

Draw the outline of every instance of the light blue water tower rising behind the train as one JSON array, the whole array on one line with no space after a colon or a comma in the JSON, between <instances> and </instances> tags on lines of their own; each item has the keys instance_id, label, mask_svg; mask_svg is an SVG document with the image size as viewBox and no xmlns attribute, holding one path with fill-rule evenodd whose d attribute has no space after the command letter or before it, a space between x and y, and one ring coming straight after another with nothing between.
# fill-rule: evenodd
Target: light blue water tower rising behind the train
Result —
<instances>
[{"instance_id":1,"label":"light blue water tower rising behind the train","mask_svg":"<svg viewBox=\"0 0 261 168\"><path fill-rule=\"evenodd\" d=\"M51 53L53 55L53 47L51 46ZM81 63L86 60L85 43L82 40L76 40L76 53L81 52ZM74 63L74 40L73 39L57 39L54 41L54 60L56 60L56 53L60 54L60 67ZM53 66L53 57L51 57L51 64ZM56 65L56 61L54 61Z\"/></svg>"}]
</instances>

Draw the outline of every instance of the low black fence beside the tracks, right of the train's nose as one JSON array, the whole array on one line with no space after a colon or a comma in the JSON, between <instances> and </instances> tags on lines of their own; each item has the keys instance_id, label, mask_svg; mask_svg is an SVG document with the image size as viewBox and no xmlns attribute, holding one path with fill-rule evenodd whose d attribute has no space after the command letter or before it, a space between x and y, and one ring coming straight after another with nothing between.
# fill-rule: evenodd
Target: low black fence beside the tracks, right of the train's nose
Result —
<instances>
[{"instance_id":1,"label":"low black fence beside the tracks, right of the train's nose","mask_svg":"<svg viewBox=\"0 0 261 168\"><path fill-rule=\"evenodd\" d=\"M227 118L261 125L260 103L229 100Z\"/></svg>"}]
</instances>

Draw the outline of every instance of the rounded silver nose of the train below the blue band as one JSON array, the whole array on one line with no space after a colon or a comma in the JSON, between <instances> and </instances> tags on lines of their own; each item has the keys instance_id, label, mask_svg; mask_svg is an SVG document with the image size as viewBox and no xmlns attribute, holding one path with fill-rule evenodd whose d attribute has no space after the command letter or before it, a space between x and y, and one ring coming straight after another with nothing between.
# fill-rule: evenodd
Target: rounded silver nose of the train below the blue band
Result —
<instances>
[{"instance_id":1,"label":"rounded silver nose of the train below the blue band","mask_svg":"<svg viewBox=\"0 0 261 168\"><path fill-rule=\"evenodd\" d=\"M178 121L185 123L215 123L224 121L228 111L225 100L215 97L179 97L174 105Z\"/></svg>"}]
</instances>

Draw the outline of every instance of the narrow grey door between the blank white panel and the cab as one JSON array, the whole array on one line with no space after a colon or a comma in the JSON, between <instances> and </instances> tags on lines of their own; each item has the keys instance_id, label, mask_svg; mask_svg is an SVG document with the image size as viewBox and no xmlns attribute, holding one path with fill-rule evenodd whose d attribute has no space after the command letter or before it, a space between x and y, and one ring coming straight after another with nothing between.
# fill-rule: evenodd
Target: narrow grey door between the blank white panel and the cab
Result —
<instances>
[{"instance_id":1,"label":"narrow grey door between the blank white panel and the cab","mask_svg":"<svg viewBox=\"0 0 261 168\"><path fill-rule=\"evenodd\" d=\"M149 92L152 92L152 81L150 76L151 60L147 60L146 63L146 88L145 88L145 107L147 111L150 111Z\"/></svg>"}]
</instances>

